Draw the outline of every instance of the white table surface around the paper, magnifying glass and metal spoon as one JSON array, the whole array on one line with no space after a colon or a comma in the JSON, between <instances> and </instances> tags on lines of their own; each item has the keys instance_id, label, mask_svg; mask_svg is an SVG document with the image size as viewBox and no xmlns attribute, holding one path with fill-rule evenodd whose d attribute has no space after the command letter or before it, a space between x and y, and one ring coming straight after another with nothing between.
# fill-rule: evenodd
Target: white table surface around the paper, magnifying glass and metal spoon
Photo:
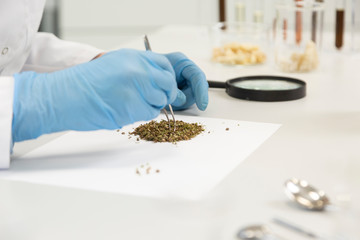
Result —
<instances>
[{"instance_id":1,"label":"white table surface around the paper, magnifying glass and metal spoon","mask_svg":"<svg viewBox=\"0 0 360 240\"><path fill-rule=\"evenodd\" d=\"M205 112L185 115L280 123L282 127L200 201L159 200L0 180L0 239L235 239L245 225L265 223L285 239L308 239L271 224L278 216L334 235L360 239L360 54L324 51L321 66L284 74L269 62L229 67L210 63L202 27L169 26L149 35L153 51L182 51L208 79L258 74L293 76L307 96L289 102L251 102L209 90ZM143 49L141 38L121 47ZM270 55L271 56L271 55ZM271 57L270 57L271 58ZM19 156L50 141L18 144ZM0 172L1 174L1 172ZM310 212L289 203L283 183L306 179L325 190L338 210Z\"/></svg>"}]
</instances>

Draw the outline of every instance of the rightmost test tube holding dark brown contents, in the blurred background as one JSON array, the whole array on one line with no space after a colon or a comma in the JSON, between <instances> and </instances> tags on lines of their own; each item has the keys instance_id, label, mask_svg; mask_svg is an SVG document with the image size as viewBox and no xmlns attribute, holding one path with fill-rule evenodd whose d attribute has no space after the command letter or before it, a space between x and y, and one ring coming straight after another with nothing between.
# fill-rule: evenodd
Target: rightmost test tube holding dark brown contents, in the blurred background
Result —
<instances>
[{"instance_id":1,"label":"rightmost test tube holding dark brown contents, in the blurred background","mask_svg":"<svg viewBox=\"0 0 360 240\"><path fill-rule=\"evenodd\" d=\"M346 0L336 0L335 47L341 49L344 44Z\"/></svg>"}]
</instances>

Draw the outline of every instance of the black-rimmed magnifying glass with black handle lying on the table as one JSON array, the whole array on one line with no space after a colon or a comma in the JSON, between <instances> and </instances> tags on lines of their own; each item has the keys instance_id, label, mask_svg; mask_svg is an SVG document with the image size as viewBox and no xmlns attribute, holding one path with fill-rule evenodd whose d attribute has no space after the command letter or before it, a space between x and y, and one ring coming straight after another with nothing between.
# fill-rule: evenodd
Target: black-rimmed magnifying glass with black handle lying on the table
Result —
<instances>
[{"instance_id":1,"label":"black-rimmed magnifying glass with black handle lying on the table","mask_svg":"<svg viewBox=\"0 0 360 240\"><path fill-rule=\"evenodd\" d=\"M261 75L208 83L211 88L225 88L226 93L232 97L252 101L290 101L306 95L306 83L290 77Z\"/></svg>"}]
</instances>

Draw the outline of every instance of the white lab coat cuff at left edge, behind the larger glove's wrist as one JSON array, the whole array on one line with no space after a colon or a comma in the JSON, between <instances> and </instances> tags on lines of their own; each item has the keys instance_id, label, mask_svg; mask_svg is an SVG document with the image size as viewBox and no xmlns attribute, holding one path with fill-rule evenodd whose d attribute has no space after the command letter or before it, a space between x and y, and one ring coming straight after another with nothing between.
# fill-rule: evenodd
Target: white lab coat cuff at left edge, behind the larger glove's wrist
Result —
<instances>
[{"instance_id":1,"label":"white lab coat cuff at left edge, behind the larger glove's wrist","mask_svg":"<svg viewBox=\"0 0 360 240\"><path fill-rule=\"evenodd\" d=\"M0 77L0 169L9 168L14 78Z\"/></svg>"}]
</instances>

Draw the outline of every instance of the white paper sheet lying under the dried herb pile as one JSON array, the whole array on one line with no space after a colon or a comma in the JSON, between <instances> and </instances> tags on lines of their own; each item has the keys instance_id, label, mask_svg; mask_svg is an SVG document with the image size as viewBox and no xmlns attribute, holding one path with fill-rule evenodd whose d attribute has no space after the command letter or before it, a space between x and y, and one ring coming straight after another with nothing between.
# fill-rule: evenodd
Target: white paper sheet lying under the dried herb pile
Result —
<instances>
[{"instance_id":1,"label":"white paper sheet lying under the dried herb pile","mask_svg":"<svg viewBox=\"0 0 360 240\"><path fill-rule=\"evenodd\" d=\"M141 123L120 132L69 132L14 159L9 170L0 172L0 178L196 200L213 189L280 127L269 123L176 117L199 122L206 130L176 145L137 141L136 137L129 139L128 132Z\"/></svg>"}]
</instances>

